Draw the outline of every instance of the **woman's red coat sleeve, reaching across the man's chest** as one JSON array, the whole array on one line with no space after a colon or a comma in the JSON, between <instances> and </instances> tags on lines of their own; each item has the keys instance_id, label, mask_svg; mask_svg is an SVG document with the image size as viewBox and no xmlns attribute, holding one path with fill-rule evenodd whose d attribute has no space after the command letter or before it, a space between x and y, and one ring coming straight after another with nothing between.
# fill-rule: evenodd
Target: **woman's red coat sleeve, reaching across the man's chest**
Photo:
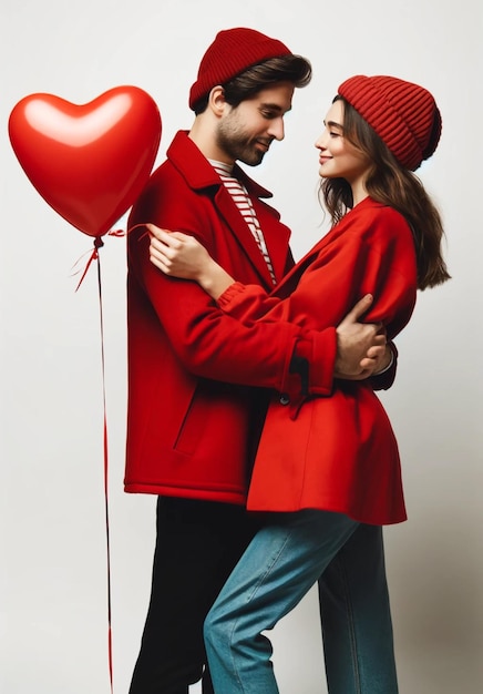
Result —
<instances>
[{"instance_id":1,"label":"woman's red coat sleeve, reaching across the man's chest","mask_svg":"<svg viewBox=\"0 0 483 694\"><path fill-rule=\"evenodd\" d=\"M239 320L289 320L323 330L337 326L364 294L371 293L374 300L364 319L381 320L392 339L410 319L415 292L411 232L401 215L384 210L377 218L367 220L362 215L350 231L335 233L333 238L319 244L314 261L285 298L267 296L259 287L237 283L218 302L223 310ZM389 387L394 372L395 365L381 376L379 387ZM310 392L323 395L311 377L309 382Z\"/></svg>"}]
</instances>

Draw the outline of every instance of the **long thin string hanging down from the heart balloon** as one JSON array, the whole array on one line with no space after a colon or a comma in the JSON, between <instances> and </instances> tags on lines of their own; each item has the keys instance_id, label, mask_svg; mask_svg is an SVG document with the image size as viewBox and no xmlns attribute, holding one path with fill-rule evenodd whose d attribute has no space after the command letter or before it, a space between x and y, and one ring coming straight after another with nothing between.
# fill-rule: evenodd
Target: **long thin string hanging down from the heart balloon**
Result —
<instances>
[{"instance_id":1,"label":"long thin string hanging down from the heart balloon","mask_svg":"<svg viewBox=\"0 0 483 694\"><path fill-rule=\"evenodd\" d=\"M104 356L104 317L102 309L102 283L101 283L101 259L99 257L99 248L103 246L101 237L94 241L95 259L97 261L97 287L99 287L99 307L101 324L101 365L102 365L102 404L104 412L104 506L105 506L105 539L107 549L107 653L109 653L109 676L111 684L111 694L113 693L113 664L112 664L112 604L111 604L111 542L109 529L109 447L107 447L107 416L105 400L105 356ZM90 263L94 259L94 253L91 255ZM88 269L88 268L86 268ZM86 272L85 269L85 272ZM84 275L85 275L84 272Z\"/></svg>"}]
</instances>

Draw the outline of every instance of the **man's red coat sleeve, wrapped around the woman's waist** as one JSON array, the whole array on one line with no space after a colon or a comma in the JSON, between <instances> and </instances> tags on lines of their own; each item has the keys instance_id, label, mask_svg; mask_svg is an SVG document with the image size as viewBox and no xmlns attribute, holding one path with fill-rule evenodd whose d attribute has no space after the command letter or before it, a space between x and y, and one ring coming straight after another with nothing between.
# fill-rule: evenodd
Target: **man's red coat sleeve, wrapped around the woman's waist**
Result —
<instances>
[{"instance_id":1,"label":"man's red coat sleeve, wrapped around the woman's waist","mask_svg":"<svg viewBox=\"0 0 483 694\"><path fill-rule=\"evenodd\" d=\"M163 275L148 258L150 239L145 228L134 228L146 221L167 228L177 228L196 235L213 251L209 224L201 223L203 210L193 212L186 201L171 201L162 210L156 202L152 207L137 208L131 215L129 227L129 282L148 298L145 310L154 310L181 363L192 374L247 386L275 388L280 392L299 394L301 377L290 370L298 344L310 351L323 341L325 369L329 374L326 389L331 387L336 340L330 335L321 340L315 330L289 322L267 322L244 325L224 314L213 300L191 280ZM147 215L147 216L146 216ZM201 228L208 232L203 237ZM317 358L319 354L317 353Z\"/></svg>"}]
</instances>

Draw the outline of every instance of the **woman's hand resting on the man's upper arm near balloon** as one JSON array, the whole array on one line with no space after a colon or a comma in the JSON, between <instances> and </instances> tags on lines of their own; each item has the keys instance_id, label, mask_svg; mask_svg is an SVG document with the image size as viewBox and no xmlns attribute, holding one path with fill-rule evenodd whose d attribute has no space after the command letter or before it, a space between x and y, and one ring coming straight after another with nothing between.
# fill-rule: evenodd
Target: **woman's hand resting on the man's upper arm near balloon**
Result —
<instances>
[{"instance_id":1,"label":"woman's hand resting on the man's upper arm near balloon","mask_svg":"<svg viewBox=\"0 0 483 694\"><path fill-rule=\"evenodd\" d=\"M165 275L194 279L214 299L235 282L194 236L168 232L155 224L146 227L151 236L150 261Z\"/></svg>"}]
</instances>

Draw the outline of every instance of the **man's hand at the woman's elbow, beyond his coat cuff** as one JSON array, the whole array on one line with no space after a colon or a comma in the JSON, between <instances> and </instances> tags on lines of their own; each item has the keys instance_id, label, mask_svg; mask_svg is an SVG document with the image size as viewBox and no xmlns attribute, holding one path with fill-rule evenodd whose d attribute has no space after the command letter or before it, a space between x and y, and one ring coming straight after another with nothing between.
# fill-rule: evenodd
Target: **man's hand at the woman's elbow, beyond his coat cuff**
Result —
<instances>
[{"instance_id":1,"label":"man's hand at the woman's elbow, beyond his coat cuff","mask_svg":"<svg viewBox=\"0 0 483 694\"><path fill-rule=\"evenodd\" d=\"M382 323L359 323L370 308L367 294L337 326L337 358L333 376L346 380L363 380L386 369L392 359Z\"/></svg>"}]
</instances>

